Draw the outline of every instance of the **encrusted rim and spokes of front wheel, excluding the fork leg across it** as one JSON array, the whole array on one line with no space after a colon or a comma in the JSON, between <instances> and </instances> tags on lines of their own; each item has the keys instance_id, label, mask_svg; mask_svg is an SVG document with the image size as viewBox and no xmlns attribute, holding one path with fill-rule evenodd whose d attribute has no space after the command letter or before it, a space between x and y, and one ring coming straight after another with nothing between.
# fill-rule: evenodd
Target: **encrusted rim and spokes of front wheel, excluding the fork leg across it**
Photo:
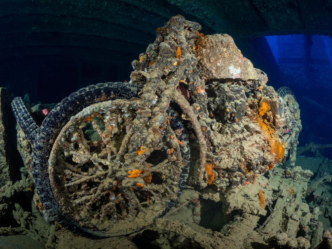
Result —
<instances>
[{"instance_id":1,"label":"encrusted rim and spokes of front wheel, excluding the fork leg across it","mask_svg":"<svg viewBox=\"0 0 332 249\"><path fill-rule=\"evenodd\" d=\"M175 118L164 130L155 130L159 146L150 148L153 152L132 167L132 174L122 167L125 155L115 161L136 109L134 100L93 104L73 116L53 144L48 173L55 200L83 227L110 235L137 231L164 215L181 194L189 144L179 145L177 140L187 137Z\"/></svg>"}]
</instances>

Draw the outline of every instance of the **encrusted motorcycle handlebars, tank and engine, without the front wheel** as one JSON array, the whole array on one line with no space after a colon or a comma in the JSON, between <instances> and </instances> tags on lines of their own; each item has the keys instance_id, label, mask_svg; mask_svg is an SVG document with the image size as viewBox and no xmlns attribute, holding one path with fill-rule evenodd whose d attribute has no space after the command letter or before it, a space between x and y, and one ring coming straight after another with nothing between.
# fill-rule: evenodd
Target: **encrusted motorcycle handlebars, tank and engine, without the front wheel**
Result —
<instances>
[{"instance_id":1,"label":"encrusted motorcycle handlebars, tank and engine, without the front wheel","mask_svg":"<svg viewBox=\"0 0 332 249\"><path fill-rule=\"evenodd\" d=\"M204 36L200 29L172 17L132 62L131 73L132 83L158 97L172 91L182 119L190 122L200 152L190 183L225 190L252 182L289 154L293 164L301 130L296 100L266 86L266 74L243 57L230 36ZM188 101L174 91L179 87L188 89Z\"/></svg>"}]
</instances>

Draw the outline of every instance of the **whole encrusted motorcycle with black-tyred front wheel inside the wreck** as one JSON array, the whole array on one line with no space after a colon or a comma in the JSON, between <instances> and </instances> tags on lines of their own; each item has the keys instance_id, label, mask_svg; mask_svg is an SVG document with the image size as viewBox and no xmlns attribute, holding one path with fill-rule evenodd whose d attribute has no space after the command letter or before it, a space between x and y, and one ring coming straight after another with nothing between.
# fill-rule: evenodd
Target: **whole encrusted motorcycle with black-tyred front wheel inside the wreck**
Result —
<instances>
[{"instance_id":1,"label":"whole encrusted motorcycle with black-tyred front wheel inside the wreck","mask_svg":"<svg viewBox=\"0 0 332 249\"><path fill-rule=\"evenodd\" d=\"M200 30L172 17L129 83L82 88L40 126L14 99L41 209L62 226L130 234L165 215L186 184L224 191L293 160L301 124L290 89L278 95L230 36Z\"/></svg>"}]
</instances>

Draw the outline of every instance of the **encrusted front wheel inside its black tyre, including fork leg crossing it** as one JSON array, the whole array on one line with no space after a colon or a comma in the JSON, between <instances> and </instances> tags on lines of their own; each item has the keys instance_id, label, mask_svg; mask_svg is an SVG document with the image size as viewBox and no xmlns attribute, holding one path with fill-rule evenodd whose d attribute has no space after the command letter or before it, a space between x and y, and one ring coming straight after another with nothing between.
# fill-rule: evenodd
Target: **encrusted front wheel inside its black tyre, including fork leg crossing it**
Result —
<instances>
[{"instance_id":1,"label":"encrusted front wheel inside its black tyre, including fork leg crossing it","mask_svg":"<svg viewBox=\"0 0 332 249\"><path fill-rule=\"evenodd\" d=\"M84 112L89 116L72 118L54 143L54 196L84 226L134 229L139 225L133 219L149 224L177 198L182 157L168 115L152 119L163 120L159 127L142 125L148 120L140 117L149 115L138 106L136 100L115 100L108 109Z\"/></svg>"}]
</instances>

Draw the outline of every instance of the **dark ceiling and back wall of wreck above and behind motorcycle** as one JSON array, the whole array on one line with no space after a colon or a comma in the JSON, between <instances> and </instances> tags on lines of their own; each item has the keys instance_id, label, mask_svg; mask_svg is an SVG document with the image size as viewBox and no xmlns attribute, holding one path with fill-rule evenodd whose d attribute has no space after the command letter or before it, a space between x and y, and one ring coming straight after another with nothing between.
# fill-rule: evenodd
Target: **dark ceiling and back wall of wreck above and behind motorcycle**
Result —
<instances>
[{"instance_id":1,"label":"dark ceiling and back wall of wreck above and behind motorcycle","mask_svg":"<svg viewBox=\"0 0 332 249\"><path fill-rule=\"evenodd\" d=\"M87 84L129 80L130 62L176 14L200 23L205 34L231 35L244 56L271 75L273 55L259 38L331 36L331 10L329 0L2 0L0 86L13 91L26 82L29 89L15 94L25 91L38 99L46 83L58 82L70 93ZM259 57L266 63L256 62Z\"/></svg>"}]
</instances>

